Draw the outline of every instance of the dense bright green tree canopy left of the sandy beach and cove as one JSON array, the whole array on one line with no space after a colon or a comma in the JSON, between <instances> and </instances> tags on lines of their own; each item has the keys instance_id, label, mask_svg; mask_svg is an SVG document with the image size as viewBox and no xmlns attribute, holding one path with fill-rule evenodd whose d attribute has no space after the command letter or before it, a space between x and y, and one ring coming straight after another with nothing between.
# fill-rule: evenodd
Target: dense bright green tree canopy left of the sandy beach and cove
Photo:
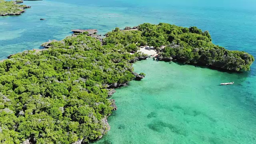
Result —
<instances>
[{"instance_id":1,"label":"dense bright green tree canopy left of the sandy beach and cove","mask_svg":"<svg viewBox=\"0 0 256 144\"><path fill-rule=\"evenodd\" d=\"M84 34L50 45L0 62L1 144L101 138L112 110L106 88L133 80L130 61L141 56Z\"/></svg>"}]
</instances>

